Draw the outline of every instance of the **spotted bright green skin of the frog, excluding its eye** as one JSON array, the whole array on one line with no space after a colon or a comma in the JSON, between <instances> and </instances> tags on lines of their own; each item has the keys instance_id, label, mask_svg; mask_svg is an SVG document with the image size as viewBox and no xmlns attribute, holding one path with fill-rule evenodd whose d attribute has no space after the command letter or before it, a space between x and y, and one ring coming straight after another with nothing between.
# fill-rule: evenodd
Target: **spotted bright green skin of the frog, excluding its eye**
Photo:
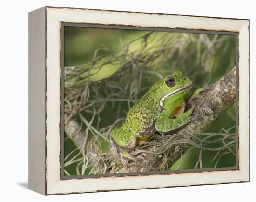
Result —
<instances>
[{"instance_id":1,"label":"spotted bright green skin of the frog, excluding its eye","mask_svg":"<svg viewBox=\"0 0 256 202\"><path fill-rule=\"evenodd\" d=\"M175 78L171 88L165 83L170 76ZM132 150L156 131L165 134L188 123L192 110L184 113L182 103L191 86L192 81L180 71L155 83L130 109L122 126L111 132L112 140L121 148ZM179 115L174 118L177 111Z\"/></svg>"}]
</instances>

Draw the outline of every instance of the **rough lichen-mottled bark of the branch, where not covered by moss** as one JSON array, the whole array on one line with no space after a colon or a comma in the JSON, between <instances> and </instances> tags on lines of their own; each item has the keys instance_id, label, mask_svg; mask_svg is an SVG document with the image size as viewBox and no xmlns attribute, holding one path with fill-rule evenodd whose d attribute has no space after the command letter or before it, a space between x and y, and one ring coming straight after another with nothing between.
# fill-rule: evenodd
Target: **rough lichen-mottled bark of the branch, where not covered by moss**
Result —
<instances>
[{"instance_id":1,"label":"rough lichen-mottled bark of the branch, where not covered by moss","mask_svg":"<svg viewBox=\"0 0 256 202\"><path fill-rule=\"evenodd\" d=\"M204 132L212 123L223 114L236 100L236 67L232 68L229 73L225 74L219 81L209 86L203 87L204 91L200 92L196 98L190 98L187 108L195 107L190 121L185 127L177 130L175 134L189 134L191 132ZM81 148L85 133L81 131L80 126L71 120L65 127L67 135L71 137L75 145ZM174 135L174 134L172 134ZM157 140L153 140L157 141ZM164 143L164 142L162 142ZM178 150L177 150L178 146ZM180 143L173 148L168 156L169 168L191 147L189 143ZM149 146L146 149L154 152L158 147ZM131 162L120 170L125 172L141 172L159 170L163 161L163 155L157 155L152 161L148 161L150 153L140 153L135 156L135 162ZM138 166L135 166L138 165Z\"/></svg>"}]
</instances>

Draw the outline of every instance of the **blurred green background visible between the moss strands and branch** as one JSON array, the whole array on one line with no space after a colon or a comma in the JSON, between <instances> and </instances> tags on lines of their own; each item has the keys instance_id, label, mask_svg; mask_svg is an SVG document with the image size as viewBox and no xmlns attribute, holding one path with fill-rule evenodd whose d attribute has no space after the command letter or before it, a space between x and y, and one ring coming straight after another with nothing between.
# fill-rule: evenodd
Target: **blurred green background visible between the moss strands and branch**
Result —
<instances>
[{"instance_id":1,"label":"blurred green background visible between the moss strands and branch","mask_svg":"<svg viewBox=\"0 0 256 202\"><path fill-rule=\"evenodd\" d=\"M107 28L89 28L89 27L65 27L64 29L64 67L67 66L77 66L83 65L92 60L94 56L94 51L97 48L107 47L109 50L114 50L120 47L122 44L126 44L134 39L137 39L149 31L140 31L140 30L128 30L128 29L107 29ZM183 33L176 33L177 35L182 35ZM195 40L200 40L199 34L183 34L184 37L194 37ZM191 36L190 36L191 35ZM193 35L193 36L192 36ZM204 34L207 35L209 40L216 37L214 34ZM210 64L207 64L211 67L210 77L207 78L209 83L217 81L222 75L224 75L230 68L234 67L236 64L236 38L234 35L223 35L218 34L218 39L223 39L222 44L219 44L218 47L214 50L215 53L210 55L212 57ZM202 40L202 39L201 39ZM204 42L202 42L204 43ZM136 49L140 47L141 44L133 44L130 49ZM154 46L154 45L153 45ZM193 50L193 47L191 47ZM184 50L186 52L186 50ZM188 51L191 51L189 49ZM101 51L98 52L98 56L104 54ZM176 69L182 69L179 64L177 65L177 59L179 58L179 52L175 53L171 60L166 62L162 67L152 67L153 71L161 72L161 68L171 71L172 67L175 65ZM189 64L187 65L188 71L193 71L193 63L198 60L198 55L195 54L193 58L189 59ZM179 62L179 61L178 61ZM182 65L184 66L184 62ZM97 74L92 76L92 81L97 81L102 78L108 77L114 74L118 70L118 65L106 66L101 69ZM196 70L195 70L196 71ZM186 72L183 72L186 74ZM152 79L144 79L142 86L150 87L152 86L159 78L152 76ZM205 81L205 75L199 74L196 78L193 79L193 83L196 88L202 87L203 81ZM141 88L143 89L143 88ZM140 96L145 92L141 90ZM139 96L139 97L140 97ZM104 111L101 113L101 126L106 127L113 123L116 119L115 111L117 110L117 105L114 107L112 103L107 104ZM122 107L121 117L125 116L125 111L127 112L128 106ZM227 112L222 114L218 120L209 128L207 132L220 132L221 128L229 129L236 124L236 105L233 105ZM235 132L236 127L232 130ZM64 157L70 154L76 147L74 143L67 138L65 134L65 143L64 143ZM214 145L213 145L214 147ZM108 150L108 144L103 144L103 150ZM186 153L186 158L183 162L182 168L179 169L194 169L195 164L198 160L200 149L190 148ZM203 168L214 168L216 161L211 161L216 155L216 152L212 151L203 151L202 152L202 165ZM78 156L78 157L81 157ZM179 164L179 161L173 165L171 169L176 169ZM220 158L217 166L218 168L222 167L233 167L236 165L236 156L233 154L223 155ZM77 163L73 163L65 169L70 175L76 175L76 166Z\"/></svg>"}]
</instances>

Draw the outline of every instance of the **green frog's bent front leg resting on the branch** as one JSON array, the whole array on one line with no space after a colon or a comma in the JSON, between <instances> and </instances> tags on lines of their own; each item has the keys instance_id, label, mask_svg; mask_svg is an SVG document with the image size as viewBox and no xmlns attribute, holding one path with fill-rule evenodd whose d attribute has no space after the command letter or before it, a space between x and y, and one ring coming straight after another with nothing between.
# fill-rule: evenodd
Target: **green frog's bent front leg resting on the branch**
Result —
<instances>
[{"instance_id":1,"label":"green frog's bent front leg resting on the branch","mask_svg":"<svg viewBox=\"0 0 256 202\"><path fill-rule=\"evenodd\" d=\"M161 133L165 134L167 132L174 131L182 126L186 125L190 121L190 115L192 114L193 109L179 114L175 118L171 118L172 114L168 109L164 109L157 117L155 122L155 129Z\"/></svg>"}]
</instances>

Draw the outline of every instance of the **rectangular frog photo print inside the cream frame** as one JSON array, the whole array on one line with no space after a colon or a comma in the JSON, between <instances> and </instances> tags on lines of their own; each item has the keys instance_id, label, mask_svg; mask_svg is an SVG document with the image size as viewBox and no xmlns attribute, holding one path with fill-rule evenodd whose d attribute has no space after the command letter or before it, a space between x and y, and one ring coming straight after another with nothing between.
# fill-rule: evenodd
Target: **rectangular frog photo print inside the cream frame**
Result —
<instances>
[{"instance_id":1,"label":"rectangular frog photo print inside the cream frame","mask_svg":"<svg viewBox=\"0 0 256 202\"><path fill-rule=\"evenodd\" d=\"M63 175L237 169L236 35L63 32Z\"/></svg>"}]
</instances>

